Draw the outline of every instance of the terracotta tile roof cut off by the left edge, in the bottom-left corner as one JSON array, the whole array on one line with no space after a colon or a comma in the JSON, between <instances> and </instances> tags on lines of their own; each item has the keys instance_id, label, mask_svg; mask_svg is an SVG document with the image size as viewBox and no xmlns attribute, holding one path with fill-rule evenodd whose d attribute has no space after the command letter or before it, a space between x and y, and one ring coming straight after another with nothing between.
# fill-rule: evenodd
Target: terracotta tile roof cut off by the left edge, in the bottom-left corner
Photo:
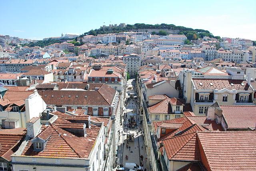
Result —
<instances>
[{"instance_id":1,"label":"terracotta tile roof cut off by the left edge, in the bottom-left corner","mask_svg":"<svg viewBox=\"0 0 256 171\"><path fill-rule=\"evenodd\" d=\"M25 128L0 130L0 157L11 161L10 156L18 149L25 136Z\"/></svg>"}]
</instances>

